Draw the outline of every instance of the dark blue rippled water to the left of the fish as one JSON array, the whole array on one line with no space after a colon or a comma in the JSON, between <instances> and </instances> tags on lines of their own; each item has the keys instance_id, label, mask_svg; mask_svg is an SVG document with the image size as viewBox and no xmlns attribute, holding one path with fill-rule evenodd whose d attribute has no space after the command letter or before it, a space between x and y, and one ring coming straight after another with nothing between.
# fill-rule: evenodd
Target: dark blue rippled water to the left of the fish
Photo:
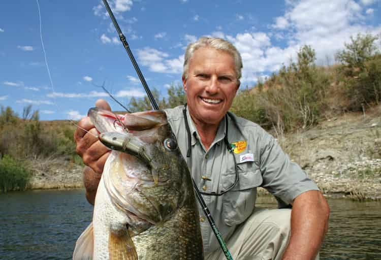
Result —
<instances>
[{"instance_id":1,"label":"dark blue rippled water to the left of the fish","mask_svg":"<svg viewBox=\"0 0 381 260\"><path fill-rule=\"evenodd\" d=\"M0 259L71 259L91 216L81 189L0 194Z\"/></svg>"}]
</instances>

